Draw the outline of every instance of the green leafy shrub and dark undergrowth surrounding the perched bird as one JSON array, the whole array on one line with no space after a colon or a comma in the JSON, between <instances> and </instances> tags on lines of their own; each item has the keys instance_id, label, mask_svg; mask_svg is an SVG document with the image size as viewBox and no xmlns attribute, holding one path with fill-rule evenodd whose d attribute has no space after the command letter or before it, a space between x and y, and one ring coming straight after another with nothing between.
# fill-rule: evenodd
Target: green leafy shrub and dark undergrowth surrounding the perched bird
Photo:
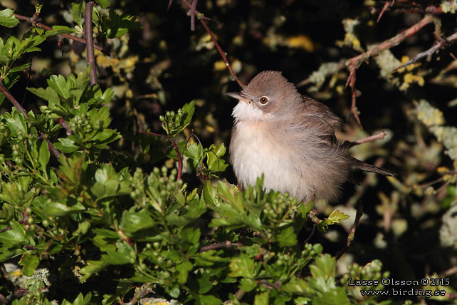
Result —
<instances>
[{"instance_id":1,"label":"green leafy shrub and dark undergrowth surrounding the perched bird","mask_svg":"<svg viewBox=\"0 0 457 305\"><path fill-rule=\"evenodd\" d=\"M187 1L98 0L96 84L75 41L85 1L11 2L14 10L0 10L0 304L424 304L429 297L366 291L392 288L383 279L443 274L449 283L402 289L446 291L431 299L455 301L456 66L431 53L399 68L413 46L419 53L451 37L453 1L337 1L315 15L300 1L198 1L189 33ZM22 14L33 14L23 35ZM434 33L424 28L429 36L408 47L392 40L424 16ZM232 78L200 20L244 83L266 69L309 75L302 83L312 97L359 115L370 133L389 130L352 153L399 175L367 175L345 187L347 203L337 207L263 190L263 177L243 191L229 183L233 105L223 93ZM363 61L352 61L360 53ZM352 83L352 68L367 77ZM26 103L11 107L21 86ZM367 98L371 90L379 96ZM353 97L357 105L334 103ZM338 137L367 135L350 119ZM364 217L357 212L354 223L356 202Z\"/></svg>"}]
</instances>

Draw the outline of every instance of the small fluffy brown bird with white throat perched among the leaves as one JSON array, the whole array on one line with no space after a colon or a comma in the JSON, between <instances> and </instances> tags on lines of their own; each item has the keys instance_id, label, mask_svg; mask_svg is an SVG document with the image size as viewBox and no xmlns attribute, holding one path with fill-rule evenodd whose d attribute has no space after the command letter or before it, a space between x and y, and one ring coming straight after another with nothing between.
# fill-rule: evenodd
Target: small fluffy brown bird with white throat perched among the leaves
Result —
<instances>
[{"instance_id":1,"label":"small fluffy brown bird with white throat perched among the leaves","mask_svg":"<svg viewBox=\"0 0 457 305\"><path fill-rule=\"evenodd\" d=\"M264 190L288 193L300 202L335 202L346 181L358 184L355 170L395 175L352 157L348 145L335 137L341 118L300 94L279 71L258 73L241 92L226 95L238 100L229 153L238 185L245 189L263 175Z\"/></svg>"}]
</instances>

